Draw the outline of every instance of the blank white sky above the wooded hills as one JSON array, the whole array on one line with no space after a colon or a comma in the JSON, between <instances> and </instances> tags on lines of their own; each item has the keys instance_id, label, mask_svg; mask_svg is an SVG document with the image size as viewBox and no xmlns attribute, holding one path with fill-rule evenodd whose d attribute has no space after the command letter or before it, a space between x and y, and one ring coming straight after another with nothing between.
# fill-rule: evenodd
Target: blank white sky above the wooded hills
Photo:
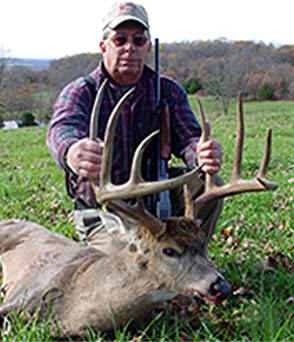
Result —
<instances>
[{"instance_id":1,"label":"blank white sky above the wooded hills","mask_svg":"<svg viewBox=\"0 0 294 342\"><path fill-rule=\"evenodd\" d=\"M0 54L61 58L99 52L109 0L1 0ZM134 0L160 42L251 40L294 45L293 0ZM1 55L0 55L1 57Z\"/></svg>"}]
</instances>

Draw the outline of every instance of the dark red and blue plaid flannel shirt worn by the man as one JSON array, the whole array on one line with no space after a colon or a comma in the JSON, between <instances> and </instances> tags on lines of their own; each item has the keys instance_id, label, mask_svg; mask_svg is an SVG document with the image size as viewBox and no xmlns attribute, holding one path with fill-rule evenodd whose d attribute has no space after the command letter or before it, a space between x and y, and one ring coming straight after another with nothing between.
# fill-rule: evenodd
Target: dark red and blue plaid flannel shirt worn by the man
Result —
<instances>
[{"instance_id":1,"label":"dark red and blue plaid flannel shirt worn by the man","mask_svg":"<svg viewBox=\"0 0 294 342\"><path fill-rule=\"evenodd\" d=\"M96 82L94 91L91 90L93 87L87 79L80 77L68 84L60 93L54 106L46 142L56 164L65 171L68 193L76 201L84 203L85 207L95 208L99 204L96 203L90 181L71 172L66 165L65 156L73 143L89 136L91 109L97 89L103 80L109 79L98 118L98 137L102 140L109 115L126 88L109 77L103 63L90 76ZM135 86L134 96L126 102L121 111L115 133L112 181L116 184L128 179L136 147L159 127L155 72L145 66L143 75ZM170 110L172 153L182 158L189 167L195 167L196 147L201 128L191 110L187 95L176 82L163 76L161 92ZM152 155L154 150L156 145L149 147L145 153L146 158ZM146 168L148 169L147 165L143 167L144 171ZM146 176L146 172L143 175Z\"/></svg>"}]
</instances>

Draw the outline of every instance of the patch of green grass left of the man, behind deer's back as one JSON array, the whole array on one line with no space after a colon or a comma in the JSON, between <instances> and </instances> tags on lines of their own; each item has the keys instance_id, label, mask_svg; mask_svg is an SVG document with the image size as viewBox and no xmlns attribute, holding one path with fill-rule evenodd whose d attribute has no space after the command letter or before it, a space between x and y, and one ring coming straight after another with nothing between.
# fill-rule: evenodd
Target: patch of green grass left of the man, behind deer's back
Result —
<instances>
[{"instance_id":1,"label":"patch of green grass left of the man, behind deer's back","mask_svg":"<svg viewBox=\"0 0 294 342\"><path fill-rule=\"evenodd\" d=\"M45 127L0 131L0 219L37 221L68 235L71 200L45 146Z\"/></svg>"}]
</instances>

